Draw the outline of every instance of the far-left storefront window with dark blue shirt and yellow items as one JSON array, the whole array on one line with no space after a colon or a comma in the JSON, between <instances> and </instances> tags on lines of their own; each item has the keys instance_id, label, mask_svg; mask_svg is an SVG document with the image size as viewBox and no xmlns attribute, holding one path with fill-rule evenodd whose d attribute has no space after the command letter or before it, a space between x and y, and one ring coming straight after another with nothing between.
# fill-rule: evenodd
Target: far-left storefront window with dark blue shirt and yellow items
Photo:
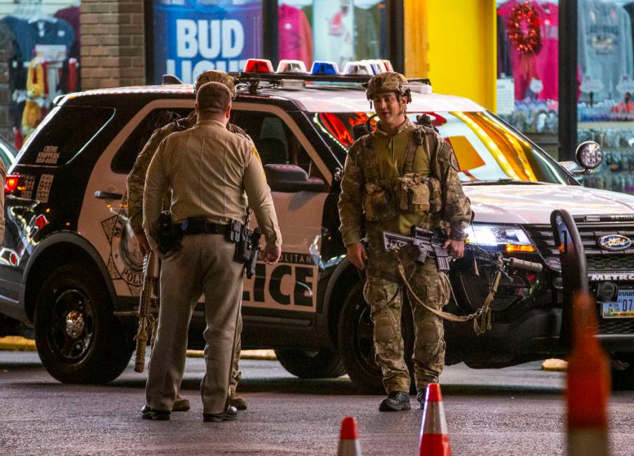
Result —
<instances>
[{"instance_id":1,"label":"far-left storefront window with dark blue shirt and yellow items","mask_svg":"<svg viewBox=\"0 0 634 456\"><path fill-rule=\"evenodd\" d=\"M80 89L79 15L75 0L0 0L0 135L17 149L56 96Z\"/></svg>"}]
</instances>

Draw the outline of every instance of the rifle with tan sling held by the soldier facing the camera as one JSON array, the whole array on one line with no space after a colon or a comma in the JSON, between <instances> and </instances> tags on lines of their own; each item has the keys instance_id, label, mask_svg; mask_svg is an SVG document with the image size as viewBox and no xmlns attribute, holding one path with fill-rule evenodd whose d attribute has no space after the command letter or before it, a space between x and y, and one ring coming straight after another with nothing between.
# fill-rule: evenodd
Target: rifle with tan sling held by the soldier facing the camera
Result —
<instances>
[{"instance_id":1,"label":"rifle with tan sling held by the soldier facing the camera","mask_svg":"<svg viewBox=\"0 0 634 456\"><path fill-rule=\"evenodd\" d=\"M450 257L447 249L442 247L442 244L447 240L447 236L440 230L430 231L418 226L412 226L411 234L401 235L398 233L391 233L389 231L383 232L383 244L386 251L396 251L398 258L398 273L401 275L403 284L407 288L408 293L412 299L416 300L422 307L430 311L432 314L444 318L445 320L455 322L465 322L473 320L473 330L476 334L484 334L487 330L491 329L491 309L489 305L498 291L498 285L500 284L500 277L502 274L507 275L508 267L515 267L517 269L523 269L527 271L540 272L542 265L540 263L533 263L531 261L518 260L517 258L504 258L502 253L491 253L473 244L465 244L465 253L473 258L474 267L477 274L477 262L478 260L484 260L485 263L493 265L496 269L496 276L489 288L489 295L484 300L484 304L480 309L477 309L470 315L454 315L440 309L434 309L429 307L425 302L422 302L420 298L414 293L410 283L405 274L405 267L401 256L398 255L398 251L401 247L407 245L413 245L417 247L416 263L423 264L427 258L435 258L435 263L438 266L440 272L449 271Z\"/></svg>"}]
</instances>

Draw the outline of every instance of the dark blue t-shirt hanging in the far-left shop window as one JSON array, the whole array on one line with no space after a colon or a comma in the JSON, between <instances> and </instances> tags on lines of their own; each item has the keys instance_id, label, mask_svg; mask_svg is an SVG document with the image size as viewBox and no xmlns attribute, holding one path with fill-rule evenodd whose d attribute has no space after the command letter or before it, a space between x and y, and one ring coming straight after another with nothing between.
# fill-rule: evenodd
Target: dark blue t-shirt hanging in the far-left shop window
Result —
<instances>
[{"instance_id":1,"label":"dark blue t-shirt hanging in the far-left shop window","mask_svg":"<svg viewBox=\"0 0 634 456\"><path fill-rule=\"evenodd\" d=\"M13 32L17 60L31 60L38 44L66 45L66 52L69 52L75 43L75 31L71 24L63 19L27 20L16 16L6 16L0 21Z\"/></svg>"}]
</instances>

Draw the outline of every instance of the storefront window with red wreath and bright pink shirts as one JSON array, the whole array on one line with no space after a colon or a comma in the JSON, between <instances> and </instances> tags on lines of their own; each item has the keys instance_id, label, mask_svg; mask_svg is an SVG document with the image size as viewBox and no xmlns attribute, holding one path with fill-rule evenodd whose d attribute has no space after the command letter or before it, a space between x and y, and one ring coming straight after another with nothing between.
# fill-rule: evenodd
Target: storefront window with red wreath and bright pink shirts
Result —
<instances>
[{"instance_id":1,"label":"storefront window with red wreath and bright pink shirts","mask_svg":"<svg viewBox=\"0 0 634 456\"><path fill-rule=\"evenodd\" d=\"M549 152L559 131L559 1L497 1L497 112Z\"/></svg>"}]
</instances>

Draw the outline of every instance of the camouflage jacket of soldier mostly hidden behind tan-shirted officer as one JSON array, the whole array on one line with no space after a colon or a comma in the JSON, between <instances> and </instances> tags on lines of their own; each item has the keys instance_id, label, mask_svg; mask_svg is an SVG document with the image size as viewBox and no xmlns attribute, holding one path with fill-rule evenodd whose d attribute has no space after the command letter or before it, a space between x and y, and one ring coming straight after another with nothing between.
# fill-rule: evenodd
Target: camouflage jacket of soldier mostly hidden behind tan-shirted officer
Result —
<instances>
[{"instance_id":1,"label":"camouflage jacket of soldier mostly hidden behind tan-shirted officer","mask_svg":"<svg viewBox=\"0 0 634 456\"><path fill-rule=\"evenodd\" d=\"M152 161L152 157L157 152L157 149L159 149L159 144L161 144L162 140L171 135L171 133L186 130L195 124L196 112L192 112L192 114L185 119L179 119L176 122L170 122L166 126L157 128L136 157L134 166L127 177L128 217L134 234L143 234L143 188L145 187L145 175L147 173L147 167L150 166L150 161ZM249 135L239 126L227 124L226 128L231 131L231 133L249 138ZM250 139L251 138L249 138L249 140Z\"/></svg>"}]
</instances>

